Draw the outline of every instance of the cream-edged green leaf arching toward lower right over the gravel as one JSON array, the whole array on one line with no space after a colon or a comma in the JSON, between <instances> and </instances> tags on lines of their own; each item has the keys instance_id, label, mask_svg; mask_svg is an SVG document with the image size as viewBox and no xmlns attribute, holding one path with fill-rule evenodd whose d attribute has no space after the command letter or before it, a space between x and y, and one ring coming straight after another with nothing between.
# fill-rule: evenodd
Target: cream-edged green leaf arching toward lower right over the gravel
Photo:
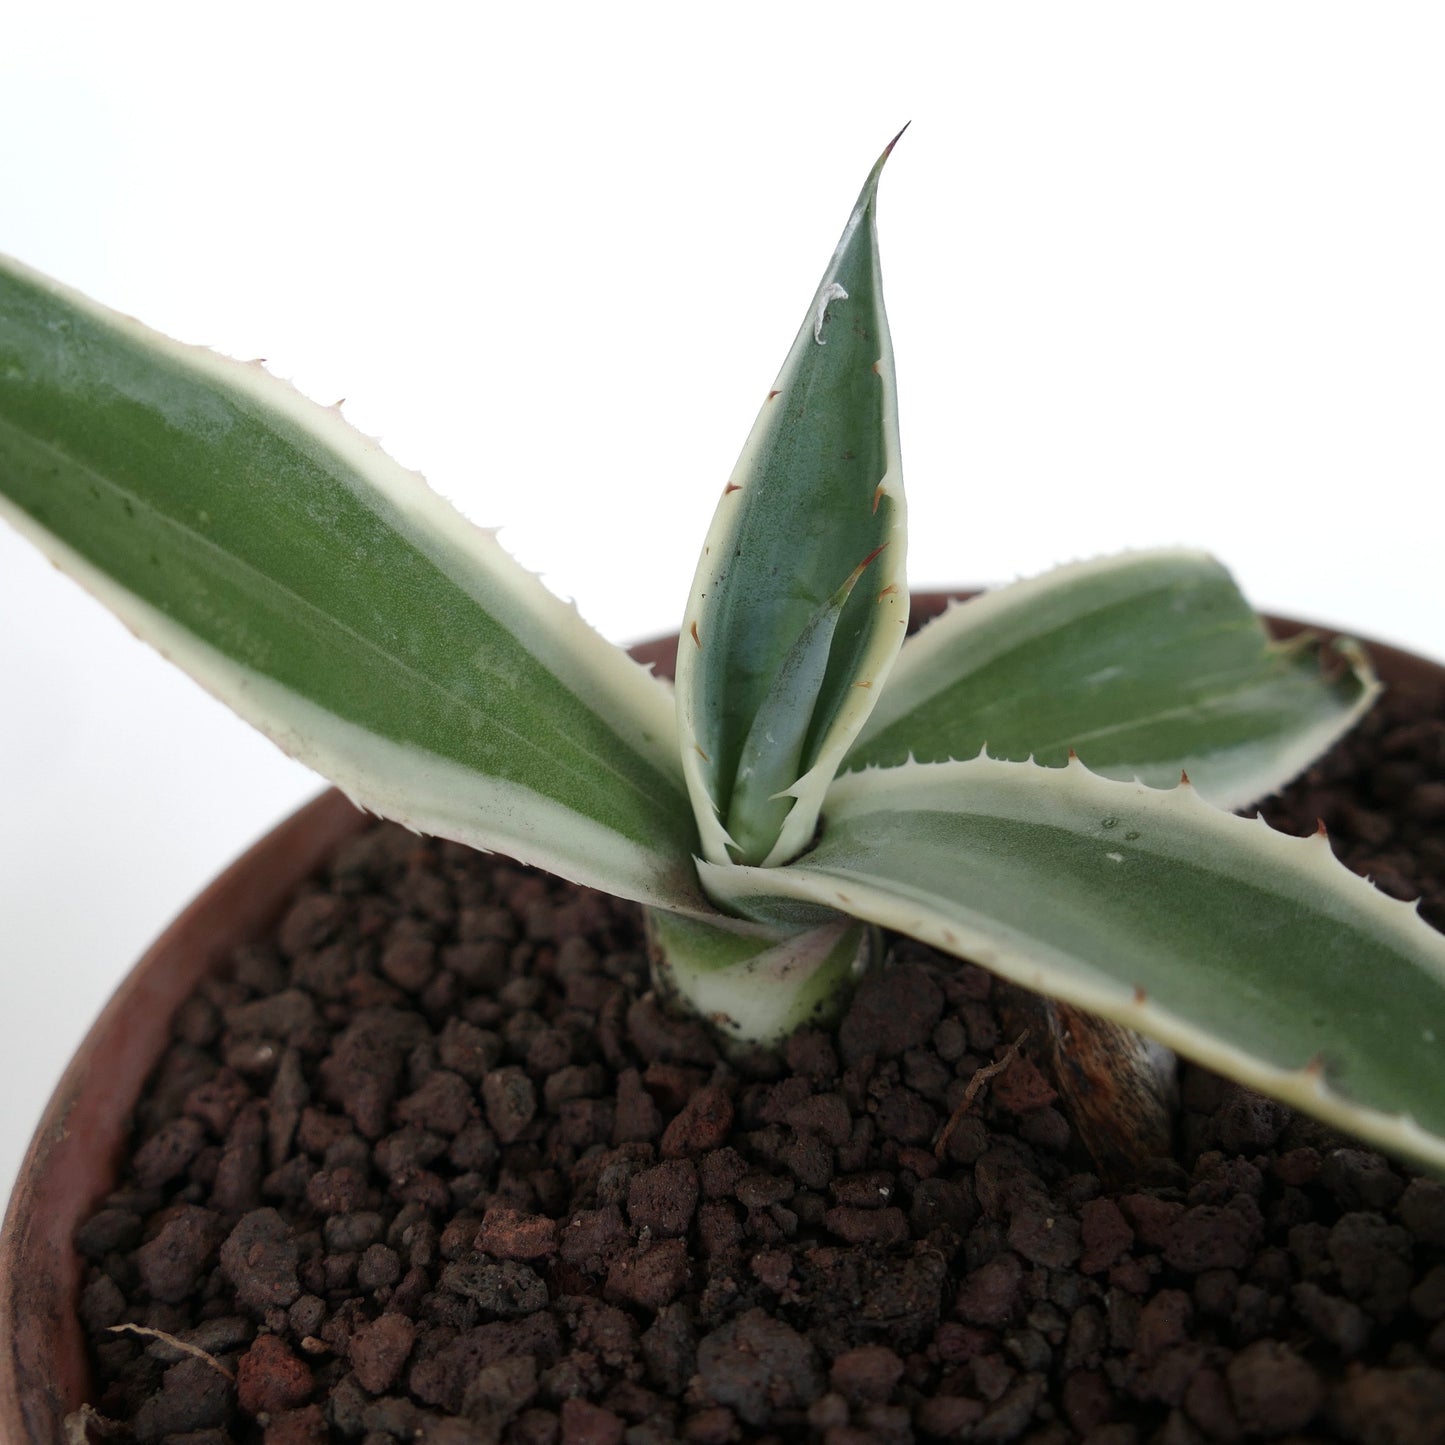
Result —
<instances>
[{"instance_id":1,"label":"cream-edged green leaf arching toward lower right over the gravel","mask_svg":"<svg viewBox=\"0 0 1445 1445\"><path fill-rule=\"evenodd\" d=\"M775 925L847 909L1445 1168L1445 936L1322 834L988 757L854 773L824 818L792 867L704 886Z\"/></svg>"}]
</instances>

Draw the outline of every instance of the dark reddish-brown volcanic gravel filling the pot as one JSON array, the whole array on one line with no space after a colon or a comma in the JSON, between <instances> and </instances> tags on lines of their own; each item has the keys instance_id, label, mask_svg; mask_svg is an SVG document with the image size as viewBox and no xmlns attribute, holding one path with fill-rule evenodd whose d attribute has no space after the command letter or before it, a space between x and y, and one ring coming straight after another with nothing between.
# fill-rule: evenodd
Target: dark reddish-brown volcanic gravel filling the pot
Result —
<instances>
[{"instance_id":1,"label":"dark reddish-brown volcanic gravel filling the pot","mask_svg":"<svg viewBox=\"0 0 1445 1445\"><path fill-rule=\"evenodd\" d=\"M1266 809L1445 923L1445 698ZM637 915L377 827L175 1020L79 1231L97 1409L173 1445L1445 1441L1445 1188L1186 1068L1107 1194L987 974L907 941L725 1064ZM117 1329L127 1324L182 1341Z\"/></svg>"}]
</instances>

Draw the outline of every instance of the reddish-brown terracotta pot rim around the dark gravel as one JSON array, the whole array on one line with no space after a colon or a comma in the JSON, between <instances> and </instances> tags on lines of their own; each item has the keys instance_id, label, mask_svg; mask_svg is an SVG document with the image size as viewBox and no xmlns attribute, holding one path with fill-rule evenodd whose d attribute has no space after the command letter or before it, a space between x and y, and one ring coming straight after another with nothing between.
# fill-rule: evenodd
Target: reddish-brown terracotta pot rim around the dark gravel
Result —
<instances>
[{"instance_id":1,"label":"reddish-brown terracotta pot rim around the dark gravel","mask_svg":"<svg viewBox=\"0 0 1445 1445\"><path fill-rule=\"evenodd\" d=\"M944 594L915 598L915 620L944 603ZM1283 636L1305 626L1270 621ZM1387 685L1445 676L1412 653L1368 647ZM670 676L676 639L643 644L633 655ZM328 792L257 842L140 959L71 1061L30 1142L0 1231L4 1445L65 1445L64 1419L88 1399L90 1364L75 1309L82 1267L71 1240L116 1186L131 1111L169 1040L172 1014L237 946L263 938L301 881L367 822Z\"/></svg>"}]
</instances>

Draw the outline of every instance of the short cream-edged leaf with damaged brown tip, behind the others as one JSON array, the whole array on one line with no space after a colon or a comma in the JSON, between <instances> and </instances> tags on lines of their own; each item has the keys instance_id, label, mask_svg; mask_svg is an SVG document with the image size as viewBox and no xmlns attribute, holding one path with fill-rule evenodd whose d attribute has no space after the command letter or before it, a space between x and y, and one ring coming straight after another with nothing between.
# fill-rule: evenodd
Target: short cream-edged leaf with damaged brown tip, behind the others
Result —
<instances>
[{"instance_id":1,"label":"short cream-edged leaf with damaged brown tip, behind the others","mask_svg":"<svg viewBox=\"0 0 1445 1445\"><path fill-rule=\"evenodd\" d=\"M1179 770L1221 808L1303 772L1379 694L1360 647L1270 642L1202 552L1078 562L949 608L903 644L845 772L1069 750L1156 788Z\"/></svg>"}]
</instances>

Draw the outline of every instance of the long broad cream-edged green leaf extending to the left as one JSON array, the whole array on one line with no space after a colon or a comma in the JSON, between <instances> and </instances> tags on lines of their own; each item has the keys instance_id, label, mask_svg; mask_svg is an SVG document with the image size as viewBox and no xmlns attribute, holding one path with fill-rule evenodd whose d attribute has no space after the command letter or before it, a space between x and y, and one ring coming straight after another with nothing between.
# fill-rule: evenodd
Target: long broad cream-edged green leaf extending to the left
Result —
<instances>
[{"instance_id":1,"label":"long broad cream-edged green leaf extending to the left","mask_svg":"<svg viewBox=\"0 0 1445 1445\"><path fill-rule=\"evenodd\" d=\"M708 912L668 688L260 366L0 260L0 509L366 808Z\"/></svg>"}]
</instances>

